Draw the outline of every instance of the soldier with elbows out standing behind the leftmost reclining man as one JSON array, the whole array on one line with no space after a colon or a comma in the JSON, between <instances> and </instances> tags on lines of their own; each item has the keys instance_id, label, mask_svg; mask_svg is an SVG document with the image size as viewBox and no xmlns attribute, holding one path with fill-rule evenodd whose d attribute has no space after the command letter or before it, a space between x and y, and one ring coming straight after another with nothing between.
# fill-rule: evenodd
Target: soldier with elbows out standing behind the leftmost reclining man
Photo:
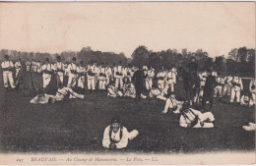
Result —
<instances>
[{"instance_id":1,"label":"soldier with elbows out standing behind the leftmost reclining man","mask_svg":"<svg viewBox=\"0 0 256 166\"><path fill-rule=\"evenodd\" d=\"M45 64L42 69L42 87L46 88L51 81L52 72L55 70L54 66L49 63L49 58L45 59Z\"/></svg>"}]
</instances>

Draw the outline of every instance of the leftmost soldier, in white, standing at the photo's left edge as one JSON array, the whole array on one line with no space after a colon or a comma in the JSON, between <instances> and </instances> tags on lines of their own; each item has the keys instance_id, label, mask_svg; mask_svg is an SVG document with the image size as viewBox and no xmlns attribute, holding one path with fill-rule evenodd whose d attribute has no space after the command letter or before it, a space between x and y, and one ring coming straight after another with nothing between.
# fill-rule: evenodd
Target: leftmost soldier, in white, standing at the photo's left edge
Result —
<instances>
[{"instance_id":1,"label":"leftmost soldier, in white, standing at the photo's left edge","mask_svg":"<svg viewBox=\"0 0 256 166\"><path fill-rule=\"evenodd\" d=\"M14 78L13 78L13 72L14 72L14 64L12 61L9 60L9 55L5 55L5 61L1 63L1 67L3 69L3 80L4 80L4 86L7 91L9 91L9 84L8 81L14 89L16 87L14 83Z\"/></svg>"}]
</instances>

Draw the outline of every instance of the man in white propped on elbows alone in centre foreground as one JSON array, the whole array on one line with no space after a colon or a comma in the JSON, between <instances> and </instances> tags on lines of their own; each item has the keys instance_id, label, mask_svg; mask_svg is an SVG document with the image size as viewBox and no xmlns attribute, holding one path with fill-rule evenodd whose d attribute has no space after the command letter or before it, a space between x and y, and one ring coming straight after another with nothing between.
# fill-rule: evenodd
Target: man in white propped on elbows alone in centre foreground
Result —
<instances>
[{"instance_id":1,"label":"man in white propped on elbows alone in centre foreground","mask_svg":"<svg viewBox=\"0 0 256 166\"><path fill-rule=\"evenodd\" d=\"M111 125L104 130L102 145L109 149L125 148L128 144L128 140L132 140L138 135L139 132L136 130L129 133L127 129L121 125L119 118L113 118Z\"/></svg>"}]
</instances>

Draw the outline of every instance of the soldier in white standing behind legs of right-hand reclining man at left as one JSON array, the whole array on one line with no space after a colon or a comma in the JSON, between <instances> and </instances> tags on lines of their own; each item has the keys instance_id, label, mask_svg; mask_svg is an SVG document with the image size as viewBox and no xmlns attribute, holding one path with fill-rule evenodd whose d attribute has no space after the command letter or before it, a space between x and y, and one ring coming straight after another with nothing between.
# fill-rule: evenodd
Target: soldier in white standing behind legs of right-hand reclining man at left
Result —
<instances>
[{"instance_id":1,"label":"soldier in white standing behind legs of right-hand reclining man at left","mask_svg":"<svg viewBox=\"0 0 256 166\"><path fill-rule=\"evenodd\" d=\"M77 84L77 58L73 57L72 58L72 63L68 65L68 75L69 75L69 79L68 79L68 84L67 87L75 87L75 85Z\"/></svg>"}]
</instances>

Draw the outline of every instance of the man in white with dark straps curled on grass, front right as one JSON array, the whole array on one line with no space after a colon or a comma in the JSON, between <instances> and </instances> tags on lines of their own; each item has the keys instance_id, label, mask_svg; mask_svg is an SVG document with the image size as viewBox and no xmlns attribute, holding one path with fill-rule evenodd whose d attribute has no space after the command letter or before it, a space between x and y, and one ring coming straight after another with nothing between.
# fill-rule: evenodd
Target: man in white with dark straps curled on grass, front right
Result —
<instances>
[{"instance_id":1,"label":"man in white with dark straps curled on grass, front right","mask_svg":"<svg viewBox=\"0 0 256 166\"><path fill-rule=\"evenodd\" d=\"M214 128L215 117L211 112L201 113L183 105L179 125L183 128Z\"/></svg>"}]
</instances>

